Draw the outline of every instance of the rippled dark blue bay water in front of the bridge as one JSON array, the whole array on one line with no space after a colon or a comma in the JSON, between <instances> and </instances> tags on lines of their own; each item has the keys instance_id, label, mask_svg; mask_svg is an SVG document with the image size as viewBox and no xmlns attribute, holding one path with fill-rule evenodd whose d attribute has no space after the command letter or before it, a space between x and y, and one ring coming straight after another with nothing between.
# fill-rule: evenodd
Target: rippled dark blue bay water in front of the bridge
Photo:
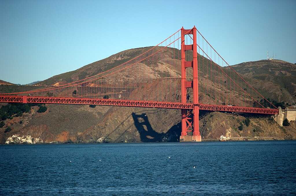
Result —
<instances>
[{"instance_id":1,"label":"rippled dark blue bay water in front of the bridge","mask_svg":"<svg viewBox=\"0 0 296 196\"><path fill-rule=\"evenodd\" d=\"M296 194L296 141L1 145L0 155L0 195Z\"/></svg>"}]
</instances>

